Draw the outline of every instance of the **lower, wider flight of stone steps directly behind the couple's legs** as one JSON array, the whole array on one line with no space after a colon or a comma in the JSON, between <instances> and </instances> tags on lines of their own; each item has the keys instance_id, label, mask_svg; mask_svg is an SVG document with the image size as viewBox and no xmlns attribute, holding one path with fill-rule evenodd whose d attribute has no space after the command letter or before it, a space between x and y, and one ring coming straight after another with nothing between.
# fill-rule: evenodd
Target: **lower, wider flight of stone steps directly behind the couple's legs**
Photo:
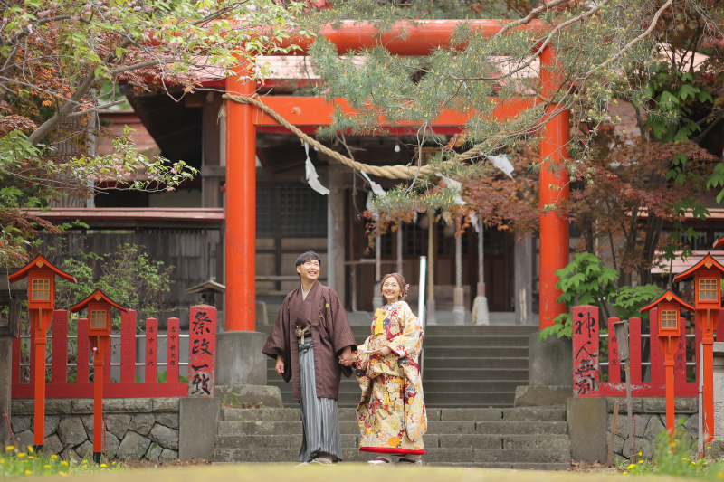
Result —
<instances>
[{"instance_id":1,"label":"lower, wider flight of stone steps directly behind the couple's legs","mask_svg":"<svg viewBox=\"0 0 724 482\"><path fill-rule=\"evenodd\" d=\"M563 409L428 409L427 465L485 468L570 467ZM301 445L299 409L223 409L214 463L296 462ZM364 462L353 409L339 410L343 457Z\"/></svg>"}]
</instances>

